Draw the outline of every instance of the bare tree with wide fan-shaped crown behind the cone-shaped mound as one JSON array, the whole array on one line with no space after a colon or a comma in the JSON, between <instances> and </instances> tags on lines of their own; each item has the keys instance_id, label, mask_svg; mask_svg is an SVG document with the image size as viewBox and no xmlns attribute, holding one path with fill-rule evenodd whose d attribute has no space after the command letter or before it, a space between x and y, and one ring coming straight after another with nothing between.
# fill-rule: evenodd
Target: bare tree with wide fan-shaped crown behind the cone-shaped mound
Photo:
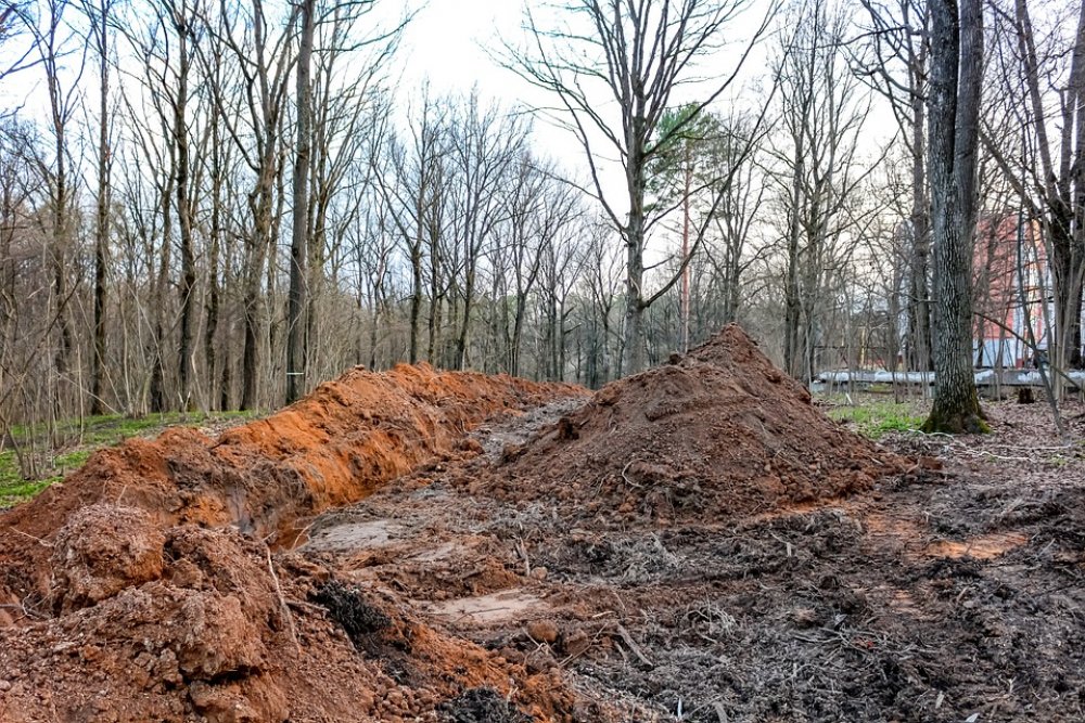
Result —
<instances>
[{"instance_id":1,"label":"bare tree with wide fan-shaped crown behind the cone-shaped mound","mask_svg":"<svg viewBox=\"0 0 1085 723\"><path fill-rule=\"evenodd\" d=\"M644 245L653 221L646 208L649 164L704 108L731 88L753 44L775 12L770 3L733 68L702 90L685 122L660 132L660 121L682 86L701 80L699 62L715 53L748 0L575 0L560 7L564 24L546 28L528 10L529 50L510 49L508 65L558 98L569 128L585 152L596 197L626 247L623 371L644 365L642 315L659 298L644 288ZM608 117L605 101L617 107ZM625 177L621 202L603 190L596 147L618 154ZM677 276L672 284L677 281Z\"/></svg>"}]
</instances>

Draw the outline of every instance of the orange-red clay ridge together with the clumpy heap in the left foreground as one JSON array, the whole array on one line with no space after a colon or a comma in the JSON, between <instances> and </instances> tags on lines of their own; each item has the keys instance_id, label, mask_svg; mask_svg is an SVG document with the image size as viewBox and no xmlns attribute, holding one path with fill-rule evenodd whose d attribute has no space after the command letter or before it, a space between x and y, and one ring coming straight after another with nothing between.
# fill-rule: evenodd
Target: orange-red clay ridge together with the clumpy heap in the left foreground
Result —
<instances>
[{"instance_id":1,"label":"orange-red clay ridge together with the clumpy heap in the left foreground","mask_svg":"<svg viewBox=\"0 0 1085 723\"><path fill-rule=\"evenodd\" d=\"M0 720L398 721L464 690L511 696L507 662L360 591L356 606L387 624L359 655L312 602L329 572L268 542L293 543L311 515L422 464L476 454L457 447L488 417L585 393L355 370L218 439L173 429L99 452L0 516ZM565 720L573 698L550 683L534 676L514 699Z\"/></svg>"}]
</instances>

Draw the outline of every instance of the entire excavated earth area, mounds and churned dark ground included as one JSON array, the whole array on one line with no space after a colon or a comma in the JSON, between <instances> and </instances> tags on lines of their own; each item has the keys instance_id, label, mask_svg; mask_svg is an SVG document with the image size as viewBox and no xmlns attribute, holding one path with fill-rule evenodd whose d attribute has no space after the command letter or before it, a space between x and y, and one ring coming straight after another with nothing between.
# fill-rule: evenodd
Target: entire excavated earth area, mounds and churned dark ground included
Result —
<instances>
[{"instance_id":1,"label":"entire excavated earth area, mounds and churned dark ground included","mask_svg":"<svg viewBox=\"0 0 1085 723\"><path fill-rule=\"evenodd\" d=\"M132 440L0 516L0 721L1083 720L1082 448L988 409L880 447L731 326Z\"/></svg>"}]
</instances>

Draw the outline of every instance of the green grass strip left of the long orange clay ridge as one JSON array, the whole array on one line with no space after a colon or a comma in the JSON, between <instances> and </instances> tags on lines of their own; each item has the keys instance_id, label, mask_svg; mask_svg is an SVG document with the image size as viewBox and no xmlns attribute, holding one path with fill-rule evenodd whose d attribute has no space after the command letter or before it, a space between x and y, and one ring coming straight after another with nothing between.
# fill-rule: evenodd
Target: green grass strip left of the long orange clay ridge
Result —
<instances>
[{"instance_id":1,"label":"green grass strip left of the long orange clay ridge","mask_svg":"<svg viewBox=\"0 0 1085 723\"><path fill-rule=\"evenodd\" d=\"M154 437L176 425L242 422L254 416L254 412L165 412L139 418L106 414L85 417L81 422L62 419L52 429L44 424L15 425L11 435L24 454L33 455L38 474L34 479L24 477L15 451L0 452L0 509L33 500L47 487L81 467L93 452L131 437Z\"/></svg>"}]
</instances>

